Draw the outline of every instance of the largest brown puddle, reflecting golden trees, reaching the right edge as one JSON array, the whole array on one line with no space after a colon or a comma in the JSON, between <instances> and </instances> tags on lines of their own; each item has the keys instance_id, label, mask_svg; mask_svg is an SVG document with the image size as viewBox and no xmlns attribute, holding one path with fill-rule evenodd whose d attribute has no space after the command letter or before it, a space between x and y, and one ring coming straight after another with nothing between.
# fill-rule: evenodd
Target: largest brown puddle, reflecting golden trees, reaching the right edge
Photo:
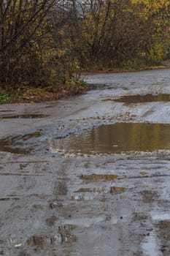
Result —
<instances>
[{"instance_id":1,"label":"largest brown puddle, reflecting golden trees, reaching the right edge","mask_svg":"<svg viewBox=\"0 0 170 256\"><path fill-rule=\"evenodd\" d=\"M53 148L83 154L117 154L122 151L170 149L170 125L109 124L69 135L67 138L53 140Z\"/></svg>"}]
</instances>

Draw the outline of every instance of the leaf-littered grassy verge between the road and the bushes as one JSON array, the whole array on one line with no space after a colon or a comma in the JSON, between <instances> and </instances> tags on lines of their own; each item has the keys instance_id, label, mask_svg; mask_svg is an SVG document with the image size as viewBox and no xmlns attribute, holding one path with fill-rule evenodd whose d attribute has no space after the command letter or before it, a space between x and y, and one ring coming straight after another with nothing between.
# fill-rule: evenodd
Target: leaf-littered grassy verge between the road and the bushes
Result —
<instances>
[{"instance_id":1,"label":"leaf-littered grassy verge between the road and the bushes","mask_svg":"<svg viewBox=\"0 0 170 256\"><path fill-rule=\"evenodd\" d=\"M85 69L81 73L83 75L90 73L104 73L104 72L136 72L150 69L169 69L170 66L167 64L161 64L158 66L139 67L139 68L128 68L128 69L104 69L104 68L93 68ZM70 79L61 81L61 83L48 84L47 86L26 86L21 84L15 86L15 88L1 88L0 86L0 104L7 103L21 103L21 102L45 102L50 100L61 99L63 97L69 97L77 94L82 94L85 91L90 90L90 86L82 80Z\"/></svg>"}]
</instances>

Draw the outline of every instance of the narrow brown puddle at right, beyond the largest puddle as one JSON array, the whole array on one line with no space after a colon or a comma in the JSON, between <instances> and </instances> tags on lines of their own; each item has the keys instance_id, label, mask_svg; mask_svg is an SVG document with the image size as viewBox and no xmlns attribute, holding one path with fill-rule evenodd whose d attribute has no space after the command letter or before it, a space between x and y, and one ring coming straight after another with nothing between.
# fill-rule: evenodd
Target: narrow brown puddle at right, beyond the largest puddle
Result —
<instances>
[{"instance_id":1,"label":"narrow brown puddle at right, beyond the largest puddle","mask_svg":"<svg viewBox=\"0 0 170 256\"><path fill-rule=\"evenodd\" d=\"M142 103L142 102L169 102L170 94L138 94L126 95L115 99L116 102L124 103Z\"/></svg>"}]
</instances>

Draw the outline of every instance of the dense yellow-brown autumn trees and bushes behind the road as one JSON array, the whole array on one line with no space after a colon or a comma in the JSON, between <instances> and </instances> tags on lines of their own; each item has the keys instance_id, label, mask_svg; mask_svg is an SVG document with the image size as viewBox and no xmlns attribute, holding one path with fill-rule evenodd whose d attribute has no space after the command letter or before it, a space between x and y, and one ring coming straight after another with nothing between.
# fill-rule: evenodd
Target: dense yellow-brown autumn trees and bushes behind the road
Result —
<instances>
[{"instance_id":1,"label":"dense yellow-brown autumn trees and bushes behind the road","mask_svg":"<svg viewBox=\"0 0 170 256\"><path fill-rule=\"evenodd\" d=\"M167 0L0 0L0 87L158 64L169 57L169 14Z\"/></svg>"}]
</instances>

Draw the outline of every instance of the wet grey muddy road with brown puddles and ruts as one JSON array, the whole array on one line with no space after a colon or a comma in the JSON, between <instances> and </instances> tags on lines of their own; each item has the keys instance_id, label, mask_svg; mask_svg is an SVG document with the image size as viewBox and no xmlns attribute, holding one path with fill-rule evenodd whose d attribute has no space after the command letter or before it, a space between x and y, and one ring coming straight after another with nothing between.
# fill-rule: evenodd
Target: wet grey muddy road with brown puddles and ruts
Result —
<instances>
[{"instance_id":1,"label":"wet grey muddy road with brown puddles and ruts","mask_svg":"<svg viewBox=\"0 0 170 256\"><path fill-rule=\"evenodd\" d=\"M170 255L170 69L0 105L0 255Z\"/></svg>"}]
</instances>

